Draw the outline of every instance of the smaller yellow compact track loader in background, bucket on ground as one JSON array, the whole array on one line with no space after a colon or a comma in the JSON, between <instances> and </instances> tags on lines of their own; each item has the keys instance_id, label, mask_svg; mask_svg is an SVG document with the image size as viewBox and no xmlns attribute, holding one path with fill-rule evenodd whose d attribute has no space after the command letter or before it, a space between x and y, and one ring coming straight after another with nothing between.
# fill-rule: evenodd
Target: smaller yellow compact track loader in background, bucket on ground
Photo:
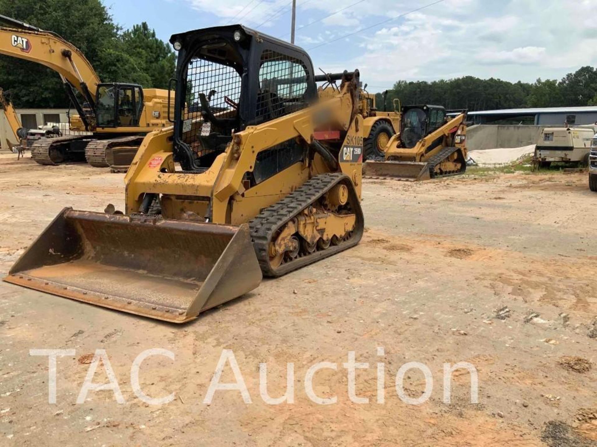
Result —
<instances>
[{"instance_id":1,"label":"smaller yellow compact track loader in background, bucket on ground","mask_svg":"<svg viewBox=\"0 0 597 447\"><path fill-rule=\"evenodd\" d=\"M400 132L384 148L383 160L367 160L370 178L429 180L466 170L466 111L450 119L438 105L402 107Z\"/></svg>"}]
</instances>

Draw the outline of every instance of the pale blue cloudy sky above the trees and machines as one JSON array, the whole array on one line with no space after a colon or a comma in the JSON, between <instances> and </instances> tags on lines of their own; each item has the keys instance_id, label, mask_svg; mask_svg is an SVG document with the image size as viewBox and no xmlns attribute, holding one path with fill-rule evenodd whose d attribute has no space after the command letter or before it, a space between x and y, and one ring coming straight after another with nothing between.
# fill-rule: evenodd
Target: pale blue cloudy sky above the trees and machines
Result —
<instances>
[{"instance_id":1,"label":"pale blue cloudy sky above the trees and machines","mask_svg":"<svg viewBox=\"0 0 597 447\"><path fill-rule=\"evenodd\" d=\"M290 39L291 0L103 1L116 23L146 21L165 41L172 33L239 18ZM316 69L358 68L370 91L398 79L466 75L533 82L597 65L597 0L441 0L426 7L432 2L297 0L296 43L309 50Z\"/></svg>"}]
</instances>

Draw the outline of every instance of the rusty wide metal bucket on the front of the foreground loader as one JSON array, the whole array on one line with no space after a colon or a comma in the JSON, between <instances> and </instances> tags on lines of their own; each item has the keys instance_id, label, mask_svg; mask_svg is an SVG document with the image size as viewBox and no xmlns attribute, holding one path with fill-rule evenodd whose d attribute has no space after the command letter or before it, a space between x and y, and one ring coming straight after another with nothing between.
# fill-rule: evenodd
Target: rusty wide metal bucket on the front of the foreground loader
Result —
<instances>
[{"instance_id":1,"label":"rusty wide metal bucket on the front of the foreground loader","mask_svg":"<svg viewBox=\"0 0 597 447\"><path fill-rule=\"evenodd\" d=\"M5 281L182 323L259 285L247 224L65 208Z\"/></svg>"}]
</instances>

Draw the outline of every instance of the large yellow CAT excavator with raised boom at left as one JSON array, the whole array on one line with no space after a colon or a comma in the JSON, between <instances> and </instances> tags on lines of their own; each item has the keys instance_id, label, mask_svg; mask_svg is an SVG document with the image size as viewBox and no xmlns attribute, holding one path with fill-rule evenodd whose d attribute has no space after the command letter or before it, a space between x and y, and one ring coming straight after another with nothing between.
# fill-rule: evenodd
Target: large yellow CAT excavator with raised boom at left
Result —
<instances>
[{"instance_id":1,"label":"large yellow CAT excavator with raised boom at left","mask_svg":"<svg viewBox=\"0 0 597 447\"><path fill-rule=\"evenodd\" d=\"M78 112L70 119L71 135L33 143L31 156L40 164L87 160L92 166L124 169L147 132L170 125L167 90L102 83L82 52L56 33L0 15L0 54L59 73Z\"/></svg>"}]
</instances>

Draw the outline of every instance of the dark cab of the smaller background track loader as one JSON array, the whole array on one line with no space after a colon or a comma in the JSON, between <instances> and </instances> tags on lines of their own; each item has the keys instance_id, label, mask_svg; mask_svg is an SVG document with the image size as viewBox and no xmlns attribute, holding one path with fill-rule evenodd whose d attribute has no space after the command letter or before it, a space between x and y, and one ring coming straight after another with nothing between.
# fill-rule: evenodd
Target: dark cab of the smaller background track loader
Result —
<instances>
[{"instance_id":1,"label":"dark cab of the smaller background track loader","mask_svg":"<svg viewBox=\"0 0 597 447\"><path fill-rule=\"evenodd\" d=\"M445 120L446 111L441 105L405 105L400 129L402 145L415 147L421 138L441 128Z\"/></svg>"}]
</instances>

